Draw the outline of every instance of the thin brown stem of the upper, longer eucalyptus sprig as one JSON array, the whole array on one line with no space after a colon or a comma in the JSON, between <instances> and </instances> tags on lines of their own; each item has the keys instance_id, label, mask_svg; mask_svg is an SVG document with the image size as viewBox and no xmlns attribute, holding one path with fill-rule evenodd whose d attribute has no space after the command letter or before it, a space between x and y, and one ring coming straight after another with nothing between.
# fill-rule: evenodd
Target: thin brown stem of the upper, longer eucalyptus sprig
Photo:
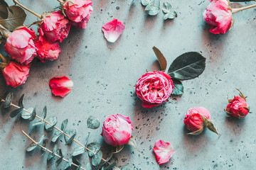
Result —
<instances>
[{"instance_id":1,"label":"thin brown stem of the upper, longer eucalyptus sprig","mask_svg":"<svg viewBox=\"0 0 256 170\"><path fill-rule=\"evenodd\" d=\"M1 99L1 102L5 102L5 100L4 100L4 99ZM11 106L14 106L15 108L21 108L21 107L19 107L19 106L16 106L14 103L11 103ZM26 110L25 108L23 108L23 111L26 111L27 113L32 114L30 111ZM42 120L43 122L47 123L48 125L52 126L51 123L48 123L48 121L44 120L44 119L41 118L40 116L36 115L36 118L38 118L38 119ZM53 128L55 128L55 130L58 130L58 131L62 132L63 135L65 135L66 137L69 137L69 138L70 138L70 136L69 136L68 134L66 134L65 132L63 132L63 131L60 130L59 128L57 128L57 127L55 127L55 126L54 126ZM91 149L87 148L85 145L82 145L82 144L81 144L80 142L78 142L77 140L73 139L73 141L76 142L78 145L80 145L80 146L82 146L82 147L85 147L85 149L87 149L88 151L92 152L92 154L95 154L95 152L93 152ZM107 162L107 160L104 159L104 158L102 158L102 161ZM107 164L111 164L111 163L110 163L110 162L107 162ZM119 170L119 168L117 168L117 166L114 166L114 168L117 169L117 170Z\"/></svg>"}]
</instances>

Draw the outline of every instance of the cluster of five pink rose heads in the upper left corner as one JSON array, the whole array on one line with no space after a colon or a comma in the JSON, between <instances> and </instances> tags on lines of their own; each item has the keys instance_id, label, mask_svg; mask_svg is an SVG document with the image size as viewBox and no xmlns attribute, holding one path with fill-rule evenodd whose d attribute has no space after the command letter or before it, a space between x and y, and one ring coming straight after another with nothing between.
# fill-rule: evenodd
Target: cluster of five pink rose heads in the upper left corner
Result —
<instances>
[{"instance_id":1,"label":"cluster of five pink rose heads in the upper left corner","mask_svg":"<svg viewBox=\"0 0 256 170\"><path fill-rule=\"evenodd\" d=\"M25 83L34 57L38 57L41 62L58 59L59 42L68 37L71 25L82 29L87 27L92 13L91 0L63 1L62 8L64 13L43 13L39 35L33 29L21 27L6 37L5 51L12 59L2 69L7 85L16 87Z\"/></svg>"}]
</instances>

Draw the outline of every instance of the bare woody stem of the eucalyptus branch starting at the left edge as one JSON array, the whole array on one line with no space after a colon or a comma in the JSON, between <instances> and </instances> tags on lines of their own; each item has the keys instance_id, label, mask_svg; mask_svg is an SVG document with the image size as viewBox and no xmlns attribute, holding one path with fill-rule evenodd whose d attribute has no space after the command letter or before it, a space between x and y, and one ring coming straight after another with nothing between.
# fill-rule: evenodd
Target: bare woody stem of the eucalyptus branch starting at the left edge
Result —
<instances>
[{"instance_id":1,"label":"bare woody stem of the eucalyptus branch starting at the left edge","mask_svg":"<svg viewBox=\"0 0 256 170\"><path fill-rule=\"evenodd\" d=\"M12 100L12 99L11 99L11 100ZM2 99L2 98L0 98L0 101L1 101L1 102L4 102L4 103L6 102L6 100L4 100L4 99ZM15 107L15 108L17 108L17 109L21 109L21 108L22 108L22 107L20 107L20 106L15 105L15 104L12 103L11 101L9 101L9 102L10 102L10 103L9 103L9 106L13 106L13 107ZM28 111L28 110L25 109L25 108L22 108L21 111L25 111L26 113L29 113L30 115L33 115L33 112ZM60 130L60 128L55 127L55 125L49 123L47 120L45 120L44 118L41 118L41 117L38 116L38 115L35 115L35 116L36 116L36 118L42 120L44 123L47 123L47 124L50 125L51 127L53 126L53 128L55 128L55 130L58 130L59 132L61 132L61 133L62 133L63 135L65 135L66 137L71 138L70 135L68 135L66 132L64 132L64 130ZM87 151L91 152L92 154L96 154L96 153L93 152L91 149L87 148L85 145L82 145L80 142L78 142L78 140L75 140L74 138L73 138L72 140L73 140L74 142L76 142L78 145L80 145L80 146L84 147L85 149L87 149ZM111 163L108 162L107 159L104 159L104 158L101 158L101 159L102 159L103 162L106 162L107 164L111 165ZM117 168L117 166L114 166L114 169L119 170L119 168Z\"/></svg>"}]
</instances>

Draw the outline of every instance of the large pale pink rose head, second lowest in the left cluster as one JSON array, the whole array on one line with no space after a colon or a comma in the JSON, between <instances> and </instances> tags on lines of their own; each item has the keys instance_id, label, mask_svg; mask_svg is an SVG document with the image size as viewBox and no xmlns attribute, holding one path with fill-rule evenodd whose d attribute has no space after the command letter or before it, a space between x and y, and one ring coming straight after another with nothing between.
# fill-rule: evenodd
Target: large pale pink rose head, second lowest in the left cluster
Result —
<instances>
[{"instance_id":1,"label":"large pale pink rose head, second lowest in the left cluster","mask_svg":"<svg viewBox=\"0 0 256 170\"><path fill-rule=\"evenodd\" d=\"M5 51L17 62L28 64L36 57L36 46L33 42L35 38L36 33L33 30L18 28L7 38Z\"/></svg>"}]
</instances>

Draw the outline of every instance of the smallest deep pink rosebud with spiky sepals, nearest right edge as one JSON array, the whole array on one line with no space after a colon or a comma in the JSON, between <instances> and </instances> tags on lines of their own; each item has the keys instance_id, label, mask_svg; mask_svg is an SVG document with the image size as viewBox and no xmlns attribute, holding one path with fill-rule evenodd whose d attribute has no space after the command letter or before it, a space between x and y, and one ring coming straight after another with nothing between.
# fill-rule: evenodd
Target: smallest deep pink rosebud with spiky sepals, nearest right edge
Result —
<instances>
[{"instance_id":1,"label":"smallest deep pink rosebud with spiky sepals, nearest right edge","mask_svg":"<svg viewBox=\"0 0 256 170\"><path fill-rule=\"evenodd\" d=\"M225 112L235 118L245 118L250 111L250 106L246 103L245 96L241 91L240 96L234 96L233 99L228 100L228 103Z\"/></svg>"}]
</instances>

